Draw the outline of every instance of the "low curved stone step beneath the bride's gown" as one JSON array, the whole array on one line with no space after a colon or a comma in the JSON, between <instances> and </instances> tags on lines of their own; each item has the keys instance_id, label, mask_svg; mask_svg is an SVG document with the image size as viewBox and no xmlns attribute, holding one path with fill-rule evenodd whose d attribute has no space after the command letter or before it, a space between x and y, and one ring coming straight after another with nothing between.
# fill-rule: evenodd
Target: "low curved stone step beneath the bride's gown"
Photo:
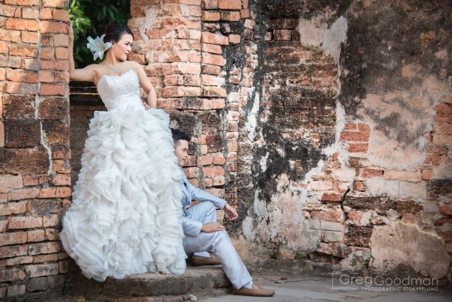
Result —
<instances>
[{"instance_id":1,"label":"low curved stone step beneath the bride's gown","mask_svg":"<svg viewBox=\"0 0 452 302\"><path fill-rule=\"evenodd\" d=\"M232 285L220 265L187 267L185 274L143 273L105 282L88 280L81 273L70 276L71 296L87 301L166 302L194 300L193 296L216 296L232 292ZM193 296L190 296L193 295Z\"/></svg>"}]
</instances>

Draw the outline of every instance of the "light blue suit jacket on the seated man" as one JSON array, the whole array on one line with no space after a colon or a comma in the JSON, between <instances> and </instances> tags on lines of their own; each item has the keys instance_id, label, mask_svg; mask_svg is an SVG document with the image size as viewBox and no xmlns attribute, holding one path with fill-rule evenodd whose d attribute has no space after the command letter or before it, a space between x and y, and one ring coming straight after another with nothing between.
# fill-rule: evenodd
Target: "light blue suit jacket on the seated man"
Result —
<instances>
[{"instance_id":1,"label":"light blue suit jacket on the seated man","mask_svg":"<svg viewBox=\"0 0 452 302\"><path fill-rule=\"evenodd\" d=\"M191 183L188 182L187 176L182 169L180 169L182 173L182 228L184 230L185 235L188 236L198 236L201 233L202 223L199 221L191 220L187 217L187 213L185 212L185 208L190 207L192 200L199 200L200 202L212 202L215 207L218 209L223 209L226 205L226 200L216 197L210 193L207 193L204 190L201 190Z\"/></svg>"}]
</instances>

